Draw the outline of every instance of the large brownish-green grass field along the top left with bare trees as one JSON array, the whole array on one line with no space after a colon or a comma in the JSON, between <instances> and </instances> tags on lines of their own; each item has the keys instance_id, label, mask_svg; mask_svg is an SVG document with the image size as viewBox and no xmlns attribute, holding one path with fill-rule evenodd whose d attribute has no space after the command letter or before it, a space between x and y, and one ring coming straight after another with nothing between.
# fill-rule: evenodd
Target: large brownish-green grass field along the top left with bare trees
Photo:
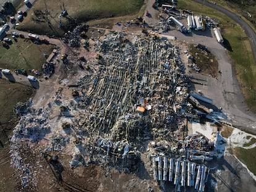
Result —
<instances>
[{"instance_id":1,"label":"large brownish-green grass field along the top left with bare trees","mask_svg":"<svg viewBox=\"0 0 256 192\"><path fill-rule=\"evenodd\" d=\"M63 9L62 2L69 14L66 18L59 17ZM76 23L137 14L143 7L143 2L144 0L38 0L18 29L61 36ZM63 23L61 28L59 28L59 20Z\"/></svg>"}]
</instances>

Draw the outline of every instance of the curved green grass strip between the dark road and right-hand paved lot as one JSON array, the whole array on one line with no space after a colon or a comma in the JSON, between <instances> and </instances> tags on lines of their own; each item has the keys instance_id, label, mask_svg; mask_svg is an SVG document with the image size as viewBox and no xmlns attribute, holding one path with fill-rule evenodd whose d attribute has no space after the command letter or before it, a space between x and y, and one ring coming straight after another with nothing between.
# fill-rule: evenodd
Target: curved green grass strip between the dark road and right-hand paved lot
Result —
<instances>
[{"instance_id":1,"label":"curved green grass strip between the dark road and right-hand paved lot","mask_svg":"<svg viewBox=\"0 0 256 192\"><path fill-rule=\"evenodd\" d=\"M239 40L239 38L246 37L242 28L221 12L207 6L201 6L194 1L180 0L177 9L190 9L194 14L208 15L221 21L221 33L233 60L233 66L245 101L250 109L256 112L256 65L249 40Z\"/></svg>"}]
</instances>

